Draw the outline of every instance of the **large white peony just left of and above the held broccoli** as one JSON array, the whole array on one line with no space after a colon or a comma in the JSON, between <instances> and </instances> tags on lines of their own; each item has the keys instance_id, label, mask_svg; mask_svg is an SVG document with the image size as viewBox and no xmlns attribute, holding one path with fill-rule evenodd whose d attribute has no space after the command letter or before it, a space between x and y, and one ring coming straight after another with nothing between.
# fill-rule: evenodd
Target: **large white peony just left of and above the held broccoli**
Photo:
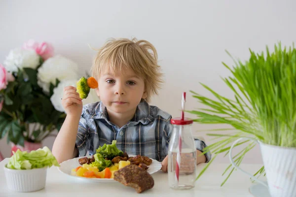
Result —
<instances>
[{"instance_id":1,"label":"large white peony just left of and above the held broccoli","mask_svg":"<svg viewBox=\"0 0 296 197\"><path fill-rule=\"evenodd\" d=\"M54 56L38 68L37 79L38 85L48 93L50 83L56 85L56 79L59 81L78 80L78 65L61 55Z\"/></svg>"}]
</instances>

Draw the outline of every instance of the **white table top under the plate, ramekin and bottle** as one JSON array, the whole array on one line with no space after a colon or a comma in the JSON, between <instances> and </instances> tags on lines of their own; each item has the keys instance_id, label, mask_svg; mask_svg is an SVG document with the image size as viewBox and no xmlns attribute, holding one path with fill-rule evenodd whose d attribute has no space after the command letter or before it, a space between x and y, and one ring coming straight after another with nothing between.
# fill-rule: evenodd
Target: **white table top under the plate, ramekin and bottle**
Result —
<instances>
[{"instance_id":1,"label":"white table top under the plate, ramekin and bottle","mask_svg":"<svg viewBox=\"0 0 296 197\"><path fill-rule=\"evenodd\" d=\"M3 167L7 163L8 159L0 163L0 197L139 197L139 194L131 187L120 183L88 183L77 180L61 173L55 166L47 171L44 189L31 193L15 193L9 191L6 186ZM198 172L204 165L198 165ZM253 197L249 193L252 182L240 171L234 171L224 186L220 187L225 178L222 172L227 165L212 164L195 182L196 186L193 189L182 191L170 189L167 173L159 171L152 174L154 187L140 195L149 197ZM241 164L241 166L251 173L255 173L261 167L259 164Z\"/></svg>"}]
</instances>

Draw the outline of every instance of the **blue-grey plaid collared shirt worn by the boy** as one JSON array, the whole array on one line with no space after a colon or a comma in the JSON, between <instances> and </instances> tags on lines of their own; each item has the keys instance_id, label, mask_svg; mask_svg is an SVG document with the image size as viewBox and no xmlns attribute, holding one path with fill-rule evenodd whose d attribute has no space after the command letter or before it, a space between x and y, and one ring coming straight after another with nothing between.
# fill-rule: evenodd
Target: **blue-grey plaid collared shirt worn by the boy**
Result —
<instances>
[{"instance_id":1,"label":"blue-grey plaid collared shirt worn by the boy","mask_svg":"<svg viewBox=\"0 0 296 197\"><path fill-rule=\"evenodd\" d=\"M156 106L141 101L134 118L119 128L109 121L106 107L102 102L83 106L79 121L75 147L79 156L96 153L99 146L116 141L118 149L131 155L144 155L162 161L168 154L172 134L171 115ZM196 149L202 151L206 144L195 139ZM206 154L207 162L211 153Z\"/></svg>"}]
</instances>

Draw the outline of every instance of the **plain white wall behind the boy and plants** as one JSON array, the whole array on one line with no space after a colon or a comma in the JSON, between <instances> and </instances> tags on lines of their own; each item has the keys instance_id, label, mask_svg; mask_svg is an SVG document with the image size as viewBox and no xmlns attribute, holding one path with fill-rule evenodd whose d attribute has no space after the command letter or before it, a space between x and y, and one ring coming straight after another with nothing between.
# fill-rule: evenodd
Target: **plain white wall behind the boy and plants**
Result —
<instances>
[{"instance_id":1,"label":"plain white wall behind the boy and plants","mask_svg":"<svg viewBox=\"0 0 296 197\"><path fill-rule=\"evenodd\" d=\"M84 73L95 55L88 44L100 47L110 37L147 39L158 51L166 80L151 104L175 117L183 91L209 96L199 82L231 97L220 78L229 74L221 62L232 63L225 49L245 60L249 47L259 51L296 41L295 7L294 0L1 0L0 62L10 49L34 38L52 43L56 54L77 62ZM200 107L190 96L186 108ZM193 130L218 127L194 124ZM212 143L205 132L195 134ZM43 145L51 148L53 141ZM9 157L5 139L0 151ZM244 162L261 163L259 147Z\"/></svg>"}]
</instances>

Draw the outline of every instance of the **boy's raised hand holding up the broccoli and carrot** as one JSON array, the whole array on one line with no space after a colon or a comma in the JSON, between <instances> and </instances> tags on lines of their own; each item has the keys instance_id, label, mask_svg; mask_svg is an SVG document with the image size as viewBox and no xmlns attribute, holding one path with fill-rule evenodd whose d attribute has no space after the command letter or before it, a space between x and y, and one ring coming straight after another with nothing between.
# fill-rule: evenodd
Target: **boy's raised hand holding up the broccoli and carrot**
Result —
<instances>
[{"instance_id":1,"label":"boy's raised hand holding up the broccoli and carrot","mask_svg":"<svg viewBox=\"0 0 296 197\"><path fill-rule=\"evenodd\" d=\"M75 87L67 86L64 88L62 105L63 105L67 115L81 116L82 99L80 99L79 94L76 92Z\"/></svg>"}]
</instances>

